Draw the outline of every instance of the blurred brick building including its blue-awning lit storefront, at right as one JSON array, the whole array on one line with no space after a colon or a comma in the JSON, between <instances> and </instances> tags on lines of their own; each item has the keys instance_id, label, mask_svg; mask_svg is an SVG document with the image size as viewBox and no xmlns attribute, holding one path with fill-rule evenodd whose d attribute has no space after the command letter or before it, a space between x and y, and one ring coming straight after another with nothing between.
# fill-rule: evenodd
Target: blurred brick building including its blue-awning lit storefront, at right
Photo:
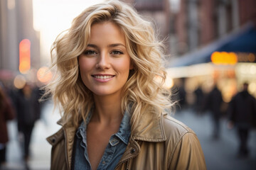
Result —
<instances>
[{"instance_id":1,"label":"blurred brick building including its blue-awning lit storefront, at right","mask_svg":"<svg viewBox=\"0 0 256 170\"><path fill-rule=\"evenodd\" d=\"M169 77L186 77L188 94L218 84L225 102L247 81L256 96L256 1L169 1Z\"/></svg>"}]
</instances>

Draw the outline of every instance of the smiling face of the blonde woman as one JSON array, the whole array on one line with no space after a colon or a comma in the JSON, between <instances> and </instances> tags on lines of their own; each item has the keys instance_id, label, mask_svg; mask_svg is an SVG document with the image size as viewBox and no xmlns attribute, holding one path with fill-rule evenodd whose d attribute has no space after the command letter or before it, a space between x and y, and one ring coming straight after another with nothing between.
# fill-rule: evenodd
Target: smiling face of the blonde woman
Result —
<instances>
[{"instance_id":1,"label":"smiling face of the blonde woman","mask_svg":"<svg viewBox=\"0 0 256 170\"><path fill-rule=\"evenodd\" d=\"M89 43L78 62L82 82L93 94L121 95L132 69L121 28L109 21L93 24Z\"/></svg>"}]
</instances>

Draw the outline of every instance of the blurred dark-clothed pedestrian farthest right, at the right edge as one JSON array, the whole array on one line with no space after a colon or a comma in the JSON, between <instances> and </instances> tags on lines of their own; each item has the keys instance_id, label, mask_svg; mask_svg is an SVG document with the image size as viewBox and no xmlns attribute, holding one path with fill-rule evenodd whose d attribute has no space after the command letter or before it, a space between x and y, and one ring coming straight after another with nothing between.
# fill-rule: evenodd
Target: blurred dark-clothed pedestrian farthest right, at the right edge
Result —
<instances>
[{"instance_id":1,"label":"blurred dark-clothed pedestrian farthest right, at the right edge","mask_svg":"<svg viewBox=\"0 0 256 170\"><path fill-rule=\"evenodd\" d=\"M242 91L236 94L229 103L228 115L229 123L228 127L235 127L238 130L239 139L239 157L247 157L249 149L247 146L250 129L256 118L256 100L248 92L248 84L243 84Z\"/></svg>"}]
</instances>

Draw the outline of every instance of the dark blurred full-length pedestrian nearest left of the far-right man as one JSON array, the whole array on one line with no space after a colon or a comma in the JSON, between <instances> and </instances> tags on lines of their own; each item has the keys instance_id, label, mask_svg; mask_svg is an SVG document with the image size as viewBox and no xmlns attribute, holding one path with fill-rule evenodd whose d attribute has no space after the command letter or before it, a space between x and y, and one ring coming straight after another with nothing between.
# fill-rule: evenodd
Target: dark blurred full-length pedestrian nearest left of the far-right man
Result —
<instances>
[{"instance_id":1,"label":"dark blurred full-length pedestrian nearest left of the far-right man","mask_svg":"<svg viewBox=\"0 0 256 170\"><path fill-rule=\"evenodd\" d=\"M206 96L206 105L204 106L205 109L210 112L210 118L213 121L213 139L218 139L220 137L220 118L222 104L222 94L215 84L208 96Z\"/></svg>"}]
</instances>

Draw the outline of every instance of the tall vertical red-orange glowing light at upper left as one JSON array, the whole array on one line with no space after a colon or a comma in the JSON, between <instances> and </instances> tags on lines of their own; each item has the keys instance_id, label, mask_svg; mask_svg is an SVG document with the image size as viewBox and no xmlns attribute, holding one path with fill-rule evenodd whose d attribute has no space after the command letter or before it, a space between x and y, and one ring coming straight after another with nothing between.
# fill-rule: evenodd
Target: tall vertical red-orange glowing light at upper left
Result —
<instances>
[{"instance_id":1,"label":"tall vertical red-orange glowing light at upper left","mask_svg":"<svg viewBox=\"0 0 256 170\"><path fill-rule=\"evenodd\" d=\"M23 39L19 43L19 71L22 74L28 72L31 68L31 42L28 39Z\"/></svg>"}]
</instances>

